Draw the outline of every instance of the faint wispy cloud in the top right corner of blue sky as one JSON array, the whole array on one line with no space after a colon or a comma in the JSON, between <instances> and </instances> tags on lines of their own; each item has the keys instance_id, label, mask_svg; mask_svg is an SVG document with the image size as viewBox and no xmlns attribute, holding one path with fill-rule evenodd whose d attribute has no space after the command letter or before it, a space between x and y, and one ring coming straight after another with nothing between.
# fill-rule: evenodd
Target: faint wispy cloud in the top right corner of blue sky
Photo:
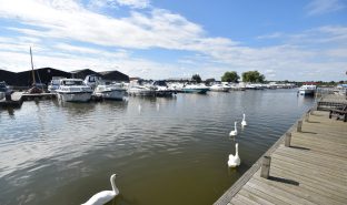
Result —
<instances>
[{"instance_id":1,"label":"faint wispy cloud in the top right corner of blue sky","mask_svg":"<svg viewBox=\"0 0 347 205\"><path fill-rule=\"evenodd\" d=\"M339 11L346 8L344 1L340 0L313 0L307 7L308 16L318 16Z\"/></svg>"}]
</instances>

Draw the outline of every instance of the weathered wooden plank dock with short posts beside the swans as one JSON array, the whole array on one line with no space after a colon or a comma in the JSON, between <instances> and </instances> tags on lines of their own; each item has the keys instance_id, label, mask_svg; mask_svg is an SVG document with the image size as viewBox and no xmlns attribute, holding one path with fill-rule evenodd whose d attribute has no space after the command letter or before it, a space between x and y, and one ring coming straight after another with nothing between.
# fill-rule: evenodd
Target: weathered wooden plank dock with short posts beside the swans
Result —
<instances>
[{"instance_id":1,"label":"weathered wooden plank dock with short posts beside the swans","mask_svg":"<svg viewBox=\"0 0 347 205\"><path fill-rule=\"evenodd\" d=\"M288 131L291 137L282 135L215 205L346 205L347 123L328 114L314 111L304 116L303 124ZM288 143L290 146L286 146ZM265 156L270 156L269 166L264 164Z\"/></svg>"}]
</instances>

